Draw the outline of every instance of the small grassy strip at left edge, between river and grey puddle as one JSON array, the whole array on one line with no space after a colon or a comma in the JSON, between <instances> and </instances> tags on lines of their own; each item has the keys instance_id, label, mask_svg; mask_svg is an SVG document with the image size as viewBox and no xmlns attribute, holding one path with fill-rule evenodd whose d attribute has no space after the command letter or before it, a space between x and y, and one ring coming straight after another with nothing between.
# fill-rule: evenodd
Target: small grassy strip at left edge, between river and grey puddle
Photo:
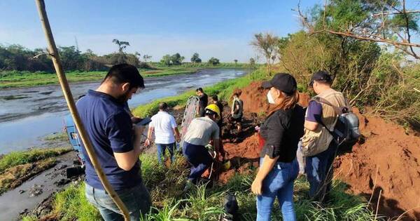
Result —
<instances>
[{"instance_id":1,"label":"small grassy strip at left edge, between river and grey puddle","mask_svg":"<svg viewBox=\"0 0 420 221\"><path fill-rule=\"evenodd\" d=\"M31 149L29 151L11 152L4 155L0 159L0 173L13 166L18 166L25 163L34 163L41 159L47 159L52 156L59 156L69 152L68 148L54 148L54 149Z\"/></svg>"}]
</instances>

